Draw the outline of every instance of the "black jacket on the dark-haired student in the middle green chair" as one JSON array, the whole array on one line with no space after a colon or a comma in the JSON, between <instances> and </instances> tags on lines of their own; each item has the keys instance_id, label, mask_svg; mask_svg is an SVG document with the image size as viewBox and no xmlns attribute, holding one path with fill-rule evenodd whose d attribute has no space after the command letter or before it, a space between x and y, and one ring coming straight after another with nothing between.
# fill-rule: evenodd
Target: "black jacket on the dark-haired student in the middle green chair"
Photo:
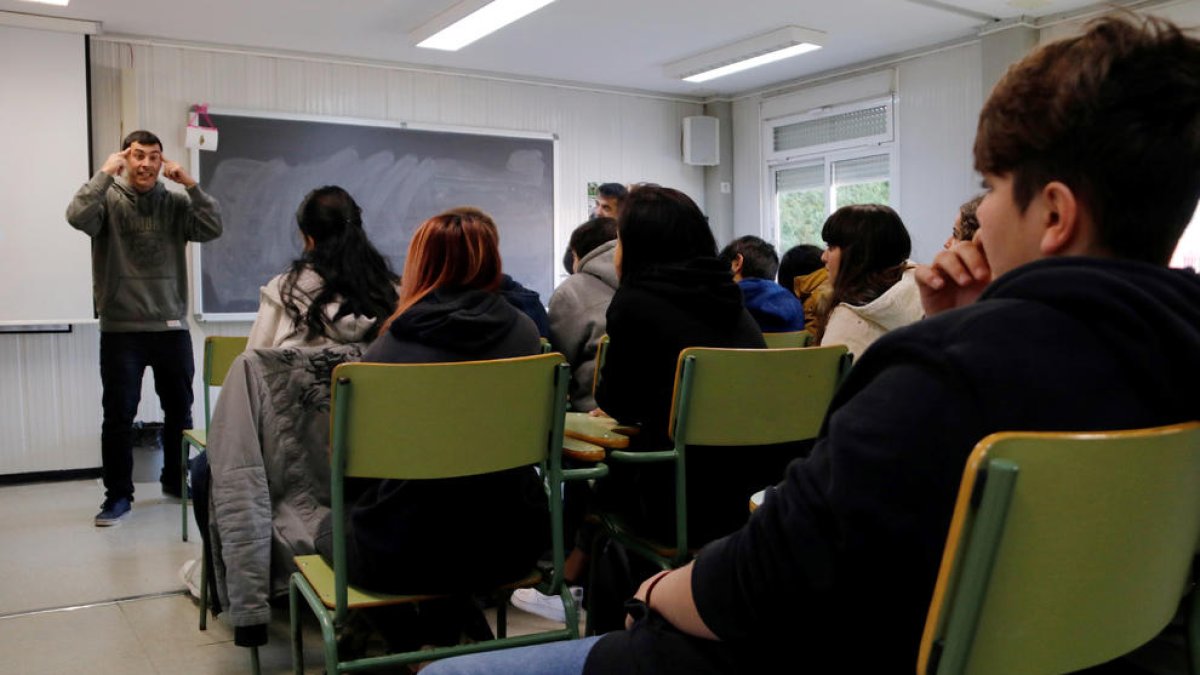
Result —
<instances>
[{"instance_id":1,"label":"black jacket on the dark-haired student in the middle green chair","mask_svg":"<svg viewBox=\"0 0 1200 675\"><path fill-rule=\"evenodd\" d=\"M623 424L641 424L634 450L670 448L676 364L686 347L766 347L728 265L716 258L650 268L623 277L608 305L608 352L596 402ZM695 450L695 452L694 452ZM689 448L689 545L745 520L745 500L778 476L794 449L734 453ZM598 483L601 506L638 531L674 540L674 473L667 464L618 465ZM749 492L746 483L757 485ZM732 506L737 504L737 506Z\"/></svg>"}]
</instances>

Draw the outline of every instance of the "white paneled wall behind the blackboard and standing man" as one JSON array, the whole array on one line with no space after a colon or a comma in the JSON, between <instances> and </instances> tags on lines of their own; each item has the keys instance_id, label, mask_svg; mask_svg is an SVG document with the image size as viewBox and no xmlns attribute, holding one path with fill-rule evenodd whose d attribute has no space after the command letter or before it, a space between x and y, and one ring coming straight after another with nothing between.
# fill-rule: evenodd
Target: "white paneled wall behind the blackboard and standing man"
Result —
<instances>
[{"instance_id":1,"label":"white paneled wall behind the blackboard and standing man","mask_svg":"<svg viewBox=\"0 0 1200 675\"><path fill-rule=\"evenodd\" d=\"M679 150L683 118L702 114L696 101L137 41L94 40L91 56L95 166L118 149L122 114L125 129L155 131L164 154L186 166L187 109L203 102L556 133L556 250L587 216L588 181L655 181L703 204L703 169L684 165ZM132 73L137 95L124 110L122 68ZM246 334L248 324L192 329L199 357L205 335ZM98 342L95 325L77 325L65 335L0 335L0 378L6 383L0 390L0 474L100 466ZM196 400L199 423L198 378ZM149 375L138 418L161 419Z\"/></svg>"}]
</instances>

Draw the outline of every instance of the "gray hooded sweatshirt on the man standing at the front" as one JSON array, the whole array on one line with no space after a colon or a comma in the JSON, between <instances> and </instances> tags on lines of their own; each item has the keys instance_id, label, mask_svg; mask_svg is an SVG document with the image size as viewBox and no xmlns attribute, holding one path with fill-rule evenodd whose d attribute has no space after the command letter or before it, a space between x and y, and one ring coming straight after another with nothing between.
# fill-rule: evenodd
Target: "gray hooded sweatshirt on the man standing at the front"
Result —
<instances>
[{"instance_id":1,"label":"gray hooded sweatshirt on the man standing at the front","mask_svg":"<svg viewBox=\"0 0 1200 675\"><path fill-rule=\"evenodd\" d=\"M157 183L139 193L96 172L67 205L67 222L91 237L91 279L100 329L187 327L188 241L221 235L221 210L199 186L187 196Z\"/></svg>"}]
</instances>

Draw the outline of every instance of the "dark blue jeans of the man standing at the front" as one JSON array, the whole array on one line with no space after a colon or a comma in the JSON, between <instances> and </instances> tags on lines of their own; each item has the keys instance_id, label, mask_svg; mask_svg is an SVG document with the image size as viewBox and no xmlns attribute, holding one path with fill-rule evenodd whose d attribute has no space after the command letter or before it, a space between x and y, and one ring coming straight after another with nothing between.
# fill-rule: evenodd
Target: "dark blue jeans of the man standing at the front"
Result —
<instances>
[{"instance_id":1,"label":"dark blue jeans of the man standing at the front","mask_svg":"<svg viewBox=\"0 0 1200 675\"><path fill-rule=\"evenodd\" d=\"M133 418L142 400L142 375L154 371L162 405L162 480L179 490L180 444L192 426L192 377L196 362L187 330L100 334L100 382L104 388L100 446L104 497L133 498Z\"/></svg>"}]
</instances>

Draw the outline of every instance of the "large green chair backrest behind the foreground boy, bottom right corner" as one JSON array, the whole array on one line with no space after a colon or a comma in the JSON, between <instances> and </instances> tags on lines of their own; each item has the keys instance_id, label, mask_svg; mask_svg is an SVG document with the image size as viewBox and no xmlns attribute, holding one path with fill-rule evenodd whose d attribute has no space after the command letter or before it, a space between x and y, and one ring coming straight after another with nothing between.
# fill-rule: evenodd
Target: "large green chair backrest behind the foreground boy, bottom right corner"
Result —
<instances>
[{"instance_id":1,"label":"large green chair backrest behind the foreground boy, bottom right corner","mask_svg":"<svg viewBox=\"0 0 1200 675\"><path fill-rule=\"evenodd\" d=\"M1200 424L1004 432L962 473L918 673L1066 673L1154 637L1200 537Z\"/></svg>"}]
</instances>

